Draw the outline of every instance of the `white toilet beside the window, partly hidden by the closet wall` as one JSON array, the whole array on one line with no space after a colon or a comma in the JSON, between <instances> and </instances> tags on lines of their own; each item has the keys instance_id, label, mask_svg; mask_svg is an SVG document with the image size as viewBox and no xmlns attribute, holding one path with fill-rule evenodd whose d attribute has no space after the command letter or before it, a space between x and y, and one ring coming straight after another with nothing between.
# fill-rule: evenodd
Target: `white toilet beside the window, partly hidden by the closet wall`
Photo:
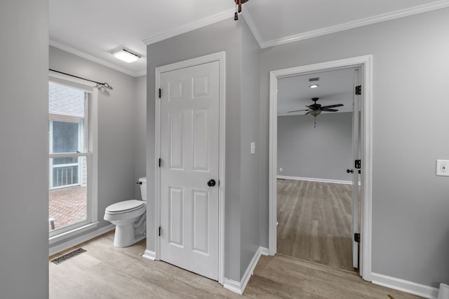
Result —
<instances>
[{"instance_id":1,"label":"white toilet beside the window, partly hidden by the closet wall","mask_svg":"<svg viewBox=\"0 0 449 299\"><path fill-rule=\"evenodd\" d=\"M147 178L141 177L142 200L124 200L106 208L105 220L116 225L114 246L127 247L145 238L147 230Z\"/></svg>"}]
</instances>

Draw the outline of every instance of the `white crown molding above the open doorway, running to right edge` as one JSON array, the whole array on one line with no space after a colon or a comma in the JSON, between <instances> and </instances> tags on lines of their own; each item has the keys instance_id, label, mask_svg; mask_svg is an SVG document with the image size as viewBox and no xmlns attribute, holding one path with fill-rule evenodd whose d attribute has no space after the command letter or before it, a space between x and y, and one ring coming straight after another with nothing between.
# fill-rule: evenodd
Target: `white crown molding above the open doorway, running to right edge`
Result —
<instances>
[{"instance_id":1,"label":"white crown molding above the open doorway, running to right edge","mask_svg":"<svg viewBox=\"0 0 449 299\"><path fill-rule=\"evenodd\" d=\"M272 46L283 45L284 43L292 43L294 41L302 41L304 39L311 39L312 37L332 34L335 32L342 32L348 29L354 29L366 25L372 25L379 22L394 20L398 18L408 17L409 15L417 15L418 13L427 13L428 11L435 11L437 9L446 8L449 6L449 0L436 1L431 4L423 4L414 6L412 8L403 9L401 11L393 11L391 13L384 13L382 15L375 15L370 18L347 22L341 25L326 27L323 29L312 30L302 34L295 34L284 37L282 39L274 39L272 41L264 41L260 43L260 48L268 48Z\"/></svg>"}]
</instances>

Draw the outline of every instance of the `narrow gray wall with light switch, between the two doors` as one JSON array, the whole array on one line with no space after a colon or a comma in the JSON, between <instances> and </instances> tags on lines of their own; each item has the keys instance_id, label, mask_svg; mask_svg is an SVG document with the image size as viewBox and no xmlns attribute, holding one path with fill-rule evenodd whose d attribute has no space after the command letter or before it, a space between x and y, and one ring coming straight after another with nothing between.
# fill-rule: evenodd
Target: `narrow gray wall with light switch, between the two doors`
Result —
<instances>
[{"instance_id":1,"label":"narrow gray wall with light switch, between the two doors","mask_svg":"<svg viewBox=\"0 0 449 299\"><path fill-rule=\"evenodd\" d=\"M243 276L259 242L260 48L241 21L241 268ZM255 153L250 154L250 143ZM231 211L232 213L232 211Z\"/></svg>"}]
</instances>

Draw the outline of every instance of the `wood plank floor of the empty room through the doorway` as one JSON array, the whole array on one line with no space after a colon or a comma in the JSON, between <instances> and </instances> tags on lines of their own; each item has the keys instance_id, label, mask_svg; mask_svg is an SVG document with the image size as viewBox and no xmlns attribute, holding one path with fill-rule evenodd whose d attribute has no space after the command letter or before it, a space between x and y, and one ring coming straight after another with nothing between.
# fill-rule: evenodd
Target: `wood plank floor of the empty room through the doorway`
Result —
<instances>
[{"instance_id":1,"label":"wood plank floor of the empty room through the doorway","mask_svg":"<svg viewBox=\"0 0 449 299\"><path fill-rule=\"evenodd\" d=\"M277 252L354 272L351 185L277 180Z\"/></svg>"}]
</instances>

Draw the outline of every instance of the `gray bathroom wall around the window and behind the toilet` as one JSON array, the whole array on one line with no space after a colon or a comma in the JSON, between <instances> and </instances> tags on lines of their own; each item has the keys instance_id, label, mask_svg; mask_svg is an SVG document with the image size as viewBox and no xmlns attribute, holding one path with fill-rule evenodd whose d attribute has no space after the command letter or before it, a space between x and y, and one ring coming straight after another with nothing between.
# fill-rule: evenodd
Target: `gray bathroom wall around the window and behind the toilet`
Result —
<instances>
[{"instance_id":1,"label":"gray bathroom wall around the window and behind the toilet","mask_svg":"<svg viewBox=\"0 0 449 299\"><path fill-rule=\"evenodd\" d=\"M103 220L109 204L140 198L136 182L145 176L145 76L135 78L52 46L49 54L51 69L114 88L98 92L98 228L102 228L111 224Z\"/></svg>"}]
</instances>

